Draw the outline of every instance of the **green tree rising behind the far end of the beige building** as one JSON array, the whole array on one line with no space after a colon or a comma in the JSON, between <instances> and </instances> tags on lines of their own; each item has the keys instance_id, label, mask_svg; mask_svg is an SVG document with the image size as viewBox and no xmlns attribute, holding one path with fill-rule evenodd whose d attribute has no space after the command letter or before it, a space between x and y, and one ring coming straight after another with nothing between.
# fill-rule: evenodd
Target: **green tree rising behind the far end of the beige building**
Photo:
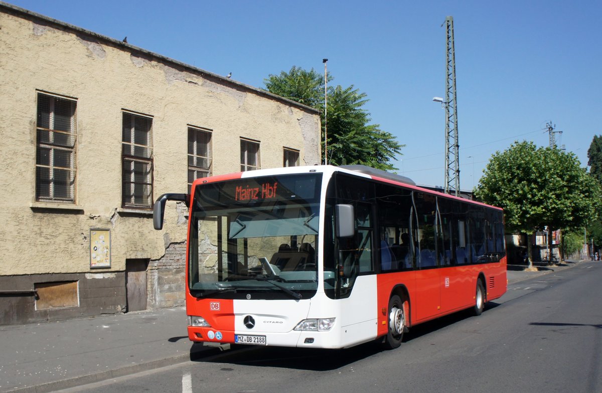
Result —
<instances>
[{"instance_id":1,"label":"green tree rising behind the far end of the beige building","mask_svg":"<svg viewBox=\"0 0 602 393\"><path fill-rule=\"evenodd\" d=\"M334 79L327 75L330 82ZM289 72L269 75L264 79L270 93L297 101L320 110L321 143L327 131L327 155L329 164L361 164L382 170L396 170L391 160L401 154L405 145L400 144L390 132L379 125L370 124L371 118L363 107L367 94L353 85L347 88L329 86L327 89L327 121L324 122L324 75L293 66ZM325 127L327 129L325 130Z\"/></svg>"}]
</instances>

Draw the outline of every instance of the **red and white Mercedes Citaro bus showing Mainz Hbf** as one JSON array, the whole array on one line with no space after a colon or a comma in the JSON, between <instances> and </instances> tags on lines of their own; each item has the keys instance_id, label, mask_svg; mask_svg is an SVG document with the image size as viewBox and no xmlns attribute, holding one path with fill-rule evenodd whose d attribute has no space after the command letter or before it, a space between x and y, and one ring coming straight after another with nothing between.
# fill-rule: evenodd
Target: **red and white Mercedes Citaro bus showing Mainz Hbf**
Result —
<instances>
[{"instance_id":1,"label":"red and white Mercedes Citaro bus showing Mainz Hbf","mask_svg":"<svg viewBox=\"0 0 602 393\"><path fill-rule=\"evenodd\" d=\"M187 203L191 341L396 348L412 326L506 292L503 212L364 166L197 179Z\"/></svg>"}]
</instances>

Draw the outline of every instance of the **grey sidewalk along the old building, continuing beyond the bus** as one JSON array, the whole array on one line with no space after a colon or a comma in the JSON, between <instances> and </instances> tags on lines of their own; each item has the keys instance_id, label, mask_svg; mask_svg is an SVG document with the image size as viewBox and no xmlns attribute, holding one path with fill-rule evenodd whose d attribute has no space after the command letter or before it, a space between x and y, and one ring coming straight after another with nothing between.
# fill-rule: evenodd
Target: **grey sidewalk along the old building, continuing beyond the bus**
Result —
<instances>
[{"instance_id":1,"label":"grey sidewalk along the old building, continuing beyond the bus","mask_svg":"<svg viewBox=\"0 0 602 393\"><path fill-rule=\"evenodd\" d=\"M515 270L507 277L512 283L577 263L540 271L509 266ZM186 326L184 308L0 326L0 393L51 392L219 351L193 345Z\"/></svg>"}]
</instances>

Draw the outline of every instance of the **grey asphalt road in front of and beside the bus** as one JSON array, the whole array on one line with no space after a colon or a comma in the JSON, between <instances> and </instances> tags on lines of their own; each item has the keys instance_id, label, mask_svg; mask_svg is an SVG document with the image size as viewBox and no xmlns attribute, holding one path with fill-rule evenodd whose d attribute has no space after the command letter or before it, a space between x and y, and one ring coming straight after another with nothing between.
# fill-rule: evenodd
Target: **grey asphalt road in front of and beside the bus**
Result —
<instances>
[{"instance_id":1,"label":"grey asphalt road in front of and beside the bus","mask_svg":"<svg viewBox=\"0 0 602 393\"><path fill-rule=\"evenodd\" d=\"M509 285L480 317L412 328L400 348L243 347L63 392L602 392L602 263Z\"/></svg>"}]
</instances>

